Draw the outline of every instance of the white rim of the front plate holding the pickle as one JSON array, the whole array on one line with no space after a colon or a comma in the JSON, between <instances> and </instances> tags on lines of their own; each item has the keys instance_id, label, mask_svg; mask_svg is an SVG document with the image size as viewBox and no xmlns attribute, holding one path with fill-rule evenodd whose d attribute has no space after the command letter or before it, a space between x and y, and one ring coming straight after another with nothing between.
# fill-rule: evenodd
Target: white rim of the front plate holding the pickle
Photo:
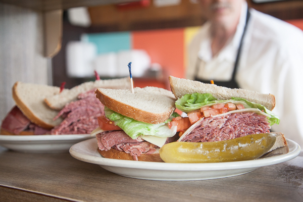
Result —
<instances>
[{"instance_id":1,"label":"white rim of the front plate holding the pickle","mask_svg":"<svg viewBox=\"0 0 303 202\"><path fill-rule=\"evenodd\" d=\"M85 145L85 143L90 143L90 141L96 142L95 138L87 139L78 142L71 146L69 152L72 157L80 161L87 163L97 164L99 166L109 166L109 167L123 167L123 168L133 168L133 169L146 169L146 170L171 170L171 171L207 171L207 170L233 170L233 169L244 169L244 168L259 168L263 166L274 165L282 162L294 159L300 154L301 148L298 143L293 140L287 139L288 143L294 144L295 148L288 151L287 154L266 157L263 159L255 159L248 161L237 161L237 162L219 162L219 163L164 163L164 162L143 162L143 161L129 161L129 160L118 160L118 159L107 159L99 155L96 148L93 149L93 154L98 154L98 156L91 156L81 154L75 149L80 145ZM91 142L92 143L92 142ZM86 148L92 151L91 148Z\"/></svg>"}]
</instances>

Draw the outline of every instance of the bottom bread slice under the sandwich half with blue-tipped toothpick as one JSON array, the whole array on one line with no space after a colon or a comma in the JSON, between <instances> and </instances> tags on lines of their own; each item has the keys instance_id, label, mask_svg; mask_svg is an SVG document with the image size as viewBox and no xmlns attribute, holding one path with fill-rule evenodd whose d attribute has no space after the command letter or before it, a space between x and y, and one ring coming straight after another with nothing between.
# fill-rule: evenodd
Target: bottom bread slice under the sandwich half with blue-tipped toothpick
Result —
<instances>
[{"instance_id":1,"label":"bottom bread slice under the sandwich half with blue-tipped toothpick","mask_svg":"<svg viewBox=\"0 0 303 202\"><path fill-rule=\"evenodd\" d=\"M130 154L127 154L123 151L116 150L111 148L110 150L100 150L97 148L98 153L103 156L104 158L109 159L120 159L120 160L131 160L134 161L133 157ZM141 154L138 156L138 161L148 161L148 162L164 162L159 153L159 149L154 154Z\"/></svg>"}]
</instances>

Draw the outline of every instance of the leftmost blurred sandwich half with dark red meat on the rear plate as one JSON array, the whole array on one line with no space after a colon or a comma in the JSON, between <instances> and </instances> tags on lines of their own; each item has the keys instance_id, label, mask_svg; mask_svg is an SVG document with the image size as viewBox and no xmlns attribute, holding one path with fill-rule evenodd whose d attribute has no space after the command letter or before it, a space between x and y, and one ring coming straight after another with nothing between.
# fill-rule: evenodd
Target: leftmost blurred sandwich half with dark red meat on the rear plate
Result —
<instances>
[{"instance_id":1,"label":"leftmost blurred sandwich half with dark red meat on the rear plate","mask_svg":"<svg viewBox=\"0 0 303 202\"><path fill-rule=\"evenodd\" d=\"M43 135L62 119L53 120L58 111L49 108L44 98L60 93L60 87L16 82L12 88L16 106L2 121L2 135Z\"/></svg>"}]
</instances>

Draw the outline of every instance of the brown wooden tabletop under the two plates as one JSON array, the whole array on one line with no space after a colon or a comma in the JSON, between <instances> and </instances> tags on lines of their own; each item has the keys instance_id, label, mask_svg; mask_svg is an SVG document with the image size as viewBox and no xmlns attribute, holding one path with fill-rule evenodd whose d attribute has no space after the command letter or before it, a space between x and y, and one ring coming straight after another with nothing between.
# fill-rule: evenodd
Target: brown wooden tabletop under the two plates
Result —
<instances>
[{"instance_id":1,"label":"brown wooden tabletop under the two plates","mask_svg":"<svg viewBox=\"0 0 303 202\"><path fill-rule=\"evenodd\" d=\"M0 201L303 201L303 154L235 177L153 181L118 176L68 153L0 147Z\"/></svg>"}]
</instances>

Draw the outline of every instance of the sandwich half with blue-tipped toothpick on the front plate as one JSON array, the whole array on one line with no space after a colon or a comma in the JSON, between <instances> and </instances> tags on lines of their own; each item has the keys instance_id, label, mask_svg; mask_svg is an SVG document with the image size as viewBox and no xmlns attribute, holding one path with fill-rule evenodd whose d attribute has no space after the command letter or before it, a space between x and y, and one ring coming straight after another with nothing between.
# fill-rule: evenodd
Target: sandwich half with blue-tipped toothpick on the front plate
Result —
<instances>
[{"instance_id":1,"label":"sandwich half with blue-tipped toothpick on the front plate","mask_svg":"<svg viewBox=\"0 0 303 202\"><path fill-rule=\"evenodd\" d=\"M105 106L96 136L98 152L105 158L163 162L159 148L175 141L175 96L158 87L131 90L97 88L96 97Z\"/></svg>"}]
</instances>

